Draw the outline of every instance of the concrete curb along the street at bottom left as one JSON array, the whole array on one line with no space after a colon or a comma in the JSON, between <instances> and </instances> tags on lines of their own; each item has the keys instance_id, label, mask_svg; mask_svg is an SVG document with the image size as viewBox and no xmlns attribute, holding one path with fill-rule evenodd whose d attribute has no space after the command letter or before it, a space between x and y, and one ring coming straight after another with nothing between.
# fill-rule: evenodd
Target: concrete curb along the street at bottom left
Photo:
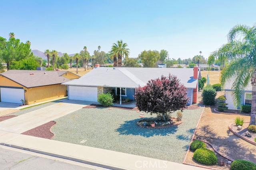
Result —
<instances>
[{"instance_id":1,"label":"concrete curb along the street at bottom left","mask_svg":"<svg viewBox=\"0 0 256 170\"><path fill-rule=\"evenodd\" d=\"M8 143L0 143L0 145L4 145L6 147L12 147L12 148L16 148L16 149L27 150L27 151L30 151L30 152L36 152L36 153L39 153L39 154L45 154L45 155L48 155L48 156L54 156L54 157L57 157L57 158L72 160L72 161L75 161L75 162L80 162L80 163L84 163L84 164L88 164L88 165L92 165L92 166L98 166L98 167L101 167L101 168L107 168L107 169L111 169L111 170L124 170L124 169L119 168L119 167L104 165L104 164L100 164L100 163L96 163L96 162L82 160L82 159L74 158L74 157L70 157L70 156L63 156L63 155L60 155L60 154L54 154L54 153L50 153L50 152L44 152L42 150L24 148L24 147L20 147L20 146L8 144Z\"/></svg>"}]
</instances>

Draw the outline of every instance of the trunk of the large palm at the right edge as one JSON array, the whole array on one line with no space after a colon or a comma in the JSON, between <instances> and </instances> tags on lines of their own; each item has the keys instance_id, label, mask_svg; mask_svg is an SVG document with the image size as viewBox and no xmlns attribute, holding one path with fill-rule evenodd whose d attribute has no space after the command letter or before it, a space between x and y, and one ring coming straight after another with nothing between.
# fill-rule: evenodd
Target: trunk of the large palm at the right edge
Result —
<instances>
[{"instance_id":1,"label":"trunk of the large palm at the right edge","mask_svg":"<svg viewBox=\"0 0 256 170\"><path fill-rule=\"evenodd\" d=\"M250 124L249 125L256 125L256 69L252 74L252 108L251 108L251 117L250 117Z\"/></svg>"}]
</instances>

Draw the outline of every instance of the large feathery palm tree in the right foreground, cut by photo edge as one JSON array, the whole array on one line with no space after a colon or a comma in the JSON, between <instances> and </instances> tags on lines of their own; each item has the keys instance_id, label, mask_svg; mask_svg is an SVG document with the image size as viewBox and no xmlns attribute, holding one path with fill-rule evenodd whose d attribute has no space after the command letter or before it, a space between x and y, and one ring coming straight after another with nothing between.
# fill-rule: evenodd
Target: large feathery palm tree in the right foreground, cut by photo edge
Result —
<instances>
[{"instance_id":1,"label":"large feathery palm tree in the right foreground, cut by photo edge","mask_svg":"<svg viewBox=\"0 0 256 170\"><path fill-rule=\"evenodd\" d=\"M222 86L234 78L232 84L234 104L241 106L241 92L252 84L252 107L250 125L256 117L256 25L236 25L228 33L228 43L214 51L212 56L220 61L231 61L221 72Z\"/></svg>"}]
</instances>

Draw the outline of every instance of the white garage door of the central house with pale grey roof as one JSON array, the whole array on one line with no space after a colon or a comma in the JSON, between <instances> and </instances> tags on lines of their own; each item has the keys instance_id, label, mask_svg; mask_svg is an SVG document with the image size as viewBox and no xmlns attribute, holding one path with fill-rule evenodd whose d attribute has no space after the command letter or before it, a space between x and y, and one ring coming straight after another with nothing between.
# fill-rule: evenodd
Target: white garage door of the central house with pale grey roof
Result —
<instances>
[{"instance_id":1,"label":"white garage door of the central house with pale grey roof","mask_svg":"<svg viewBox=\"0 0 256 170\"><path fill-rule=\"evenodd\" d=\"M97 102L97 87L68 86L69 100Z\"/></svg>"}]
</instances>

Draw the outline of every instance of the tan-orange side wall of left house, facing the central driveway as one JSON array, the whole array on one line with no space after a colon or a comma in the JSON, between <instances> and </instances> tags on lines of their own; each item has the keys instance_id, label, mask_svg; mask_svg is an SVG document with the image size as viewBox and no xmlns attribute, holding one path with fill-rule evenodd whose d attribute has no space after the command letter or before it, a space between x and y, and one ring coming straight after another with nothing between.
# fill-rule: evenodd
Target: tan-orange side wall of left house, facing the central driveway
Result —
<instances>
[{"instance_id":1,"label":"tan-orange side wall of left house, facing the central driveway","mask_svg":"<svg viewBox=\"0 0 256 170\"><path fill-rule=\"evenodd\" d=\"M59 97L67 96L67 86L62 84L41 86L35 88L25 88L25 102L26 104L34 104L52 100Z\"/></svg>"}]
</instances>

